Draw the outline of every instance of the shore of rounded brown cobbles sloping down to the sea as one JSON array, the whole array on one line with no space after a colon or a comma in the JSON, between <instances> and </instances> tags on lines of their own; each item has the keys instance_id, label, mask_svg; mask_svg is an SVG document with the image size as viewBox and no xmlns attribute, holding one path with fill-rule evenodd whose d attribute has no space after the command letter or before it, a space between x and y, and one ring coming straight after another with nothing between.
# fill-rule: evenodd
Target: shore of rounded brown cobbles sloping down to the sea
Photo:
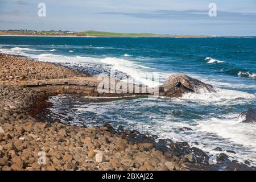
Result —
<instances>
[{"instance_id":1,"label":"shore of rounded brown cobbles sloping down to the sea","mask_svg":"<svg viewBox=\"0 0 256 182\"><path fill-rule=\"evenodd\" d=\"M47 92L19 83L88 75L11 55L0 54L0 64L4 70L0 73L2 171L255 169L247 160L239 163L221 152L213 158L187 142L158 139L122 127L64 125L59 119L49 122L47 117L42 117L51 106L47 97L61 92ZM175 89L191 89L186 85L188 82L181 81Z\"/></svg>"}]
</instances>

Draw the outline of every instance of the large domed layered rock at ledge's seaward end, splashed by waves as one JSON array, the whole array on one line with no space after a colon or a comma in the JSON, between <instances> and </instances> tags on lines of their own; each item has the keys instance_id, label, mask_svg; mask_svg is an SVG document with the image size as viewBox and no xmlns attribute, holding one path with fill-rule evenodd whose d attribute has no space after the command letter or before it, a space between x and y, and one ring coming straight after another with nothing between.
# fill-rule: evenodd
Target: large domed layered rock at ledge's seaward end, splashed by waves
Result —
<instances>
[{"instance_id":1,"label":"large domed layered rock at ledge's seaward end, splashed by waves","mask_svg":"<svg viewBox=\"0 0 256 182\"><path fill-rule=\"evenodd\" d=\"M191 78L185 74L175 73L159 86L160 96L181 97L184 93L216 92L212 85Z\"/></svg>"}]
</instances>

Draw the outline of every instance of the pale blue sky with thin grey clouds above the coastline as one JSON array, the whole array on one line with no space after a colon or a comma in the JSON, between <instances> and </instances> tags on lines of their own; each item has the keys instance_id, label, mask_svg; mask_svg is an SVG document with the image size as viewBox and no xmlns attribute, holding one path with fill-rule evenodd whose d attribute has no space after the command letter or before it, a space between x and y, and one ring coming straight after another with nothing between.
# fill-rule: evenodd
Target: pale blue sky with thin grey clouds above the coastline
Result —
<instances>
[{"instance_id":1,"label":"pale blue sky with thin grey clouds above the coastline","mask_svg":"<svg viewBox=\"0 0 256 182\"><path fill-rule=\"evenodd\" d=\"M46 17L38 4L46 4ZM208 15L216 3L217 17ZM256 35L255 0L0 0L0 29Z\"/></svg>"}]
</instances>

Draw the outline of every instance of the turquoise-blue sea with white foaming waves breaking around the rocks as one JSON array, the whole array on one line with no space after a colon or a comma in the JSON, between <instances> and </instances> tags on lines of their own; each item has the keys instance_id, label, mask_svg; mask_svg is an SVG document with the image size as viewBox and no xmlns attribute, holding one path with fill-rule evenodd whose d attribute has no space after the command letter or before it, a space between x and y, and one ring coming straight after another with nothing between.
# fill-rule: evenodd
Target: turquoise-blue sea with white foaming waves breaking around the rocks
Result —
<instances>
[{"instance_id":1,"label":"turquoise-blue sea with white foaming waves breaking around the rocks","mask_svg":"<svg viewBox=\"0 0 256 182\"><path fill-rule=\"evenodd\" d=\"M110 70L143 84L147 73L159 84L172 73L185 73L212 84L217 93L182 98L135 98L90 102L88 98L51 98L52 111L90 126L105 122L160 138L187 141L212 154L233 150L236 159L256 163L256 125L237 118L256 108L256 38L43 38L0 36L0 51L85 69ZM93 99L93 98L91 98ZM191 131L179 131L181 127Z\"/></svg>"}]
</instances>

